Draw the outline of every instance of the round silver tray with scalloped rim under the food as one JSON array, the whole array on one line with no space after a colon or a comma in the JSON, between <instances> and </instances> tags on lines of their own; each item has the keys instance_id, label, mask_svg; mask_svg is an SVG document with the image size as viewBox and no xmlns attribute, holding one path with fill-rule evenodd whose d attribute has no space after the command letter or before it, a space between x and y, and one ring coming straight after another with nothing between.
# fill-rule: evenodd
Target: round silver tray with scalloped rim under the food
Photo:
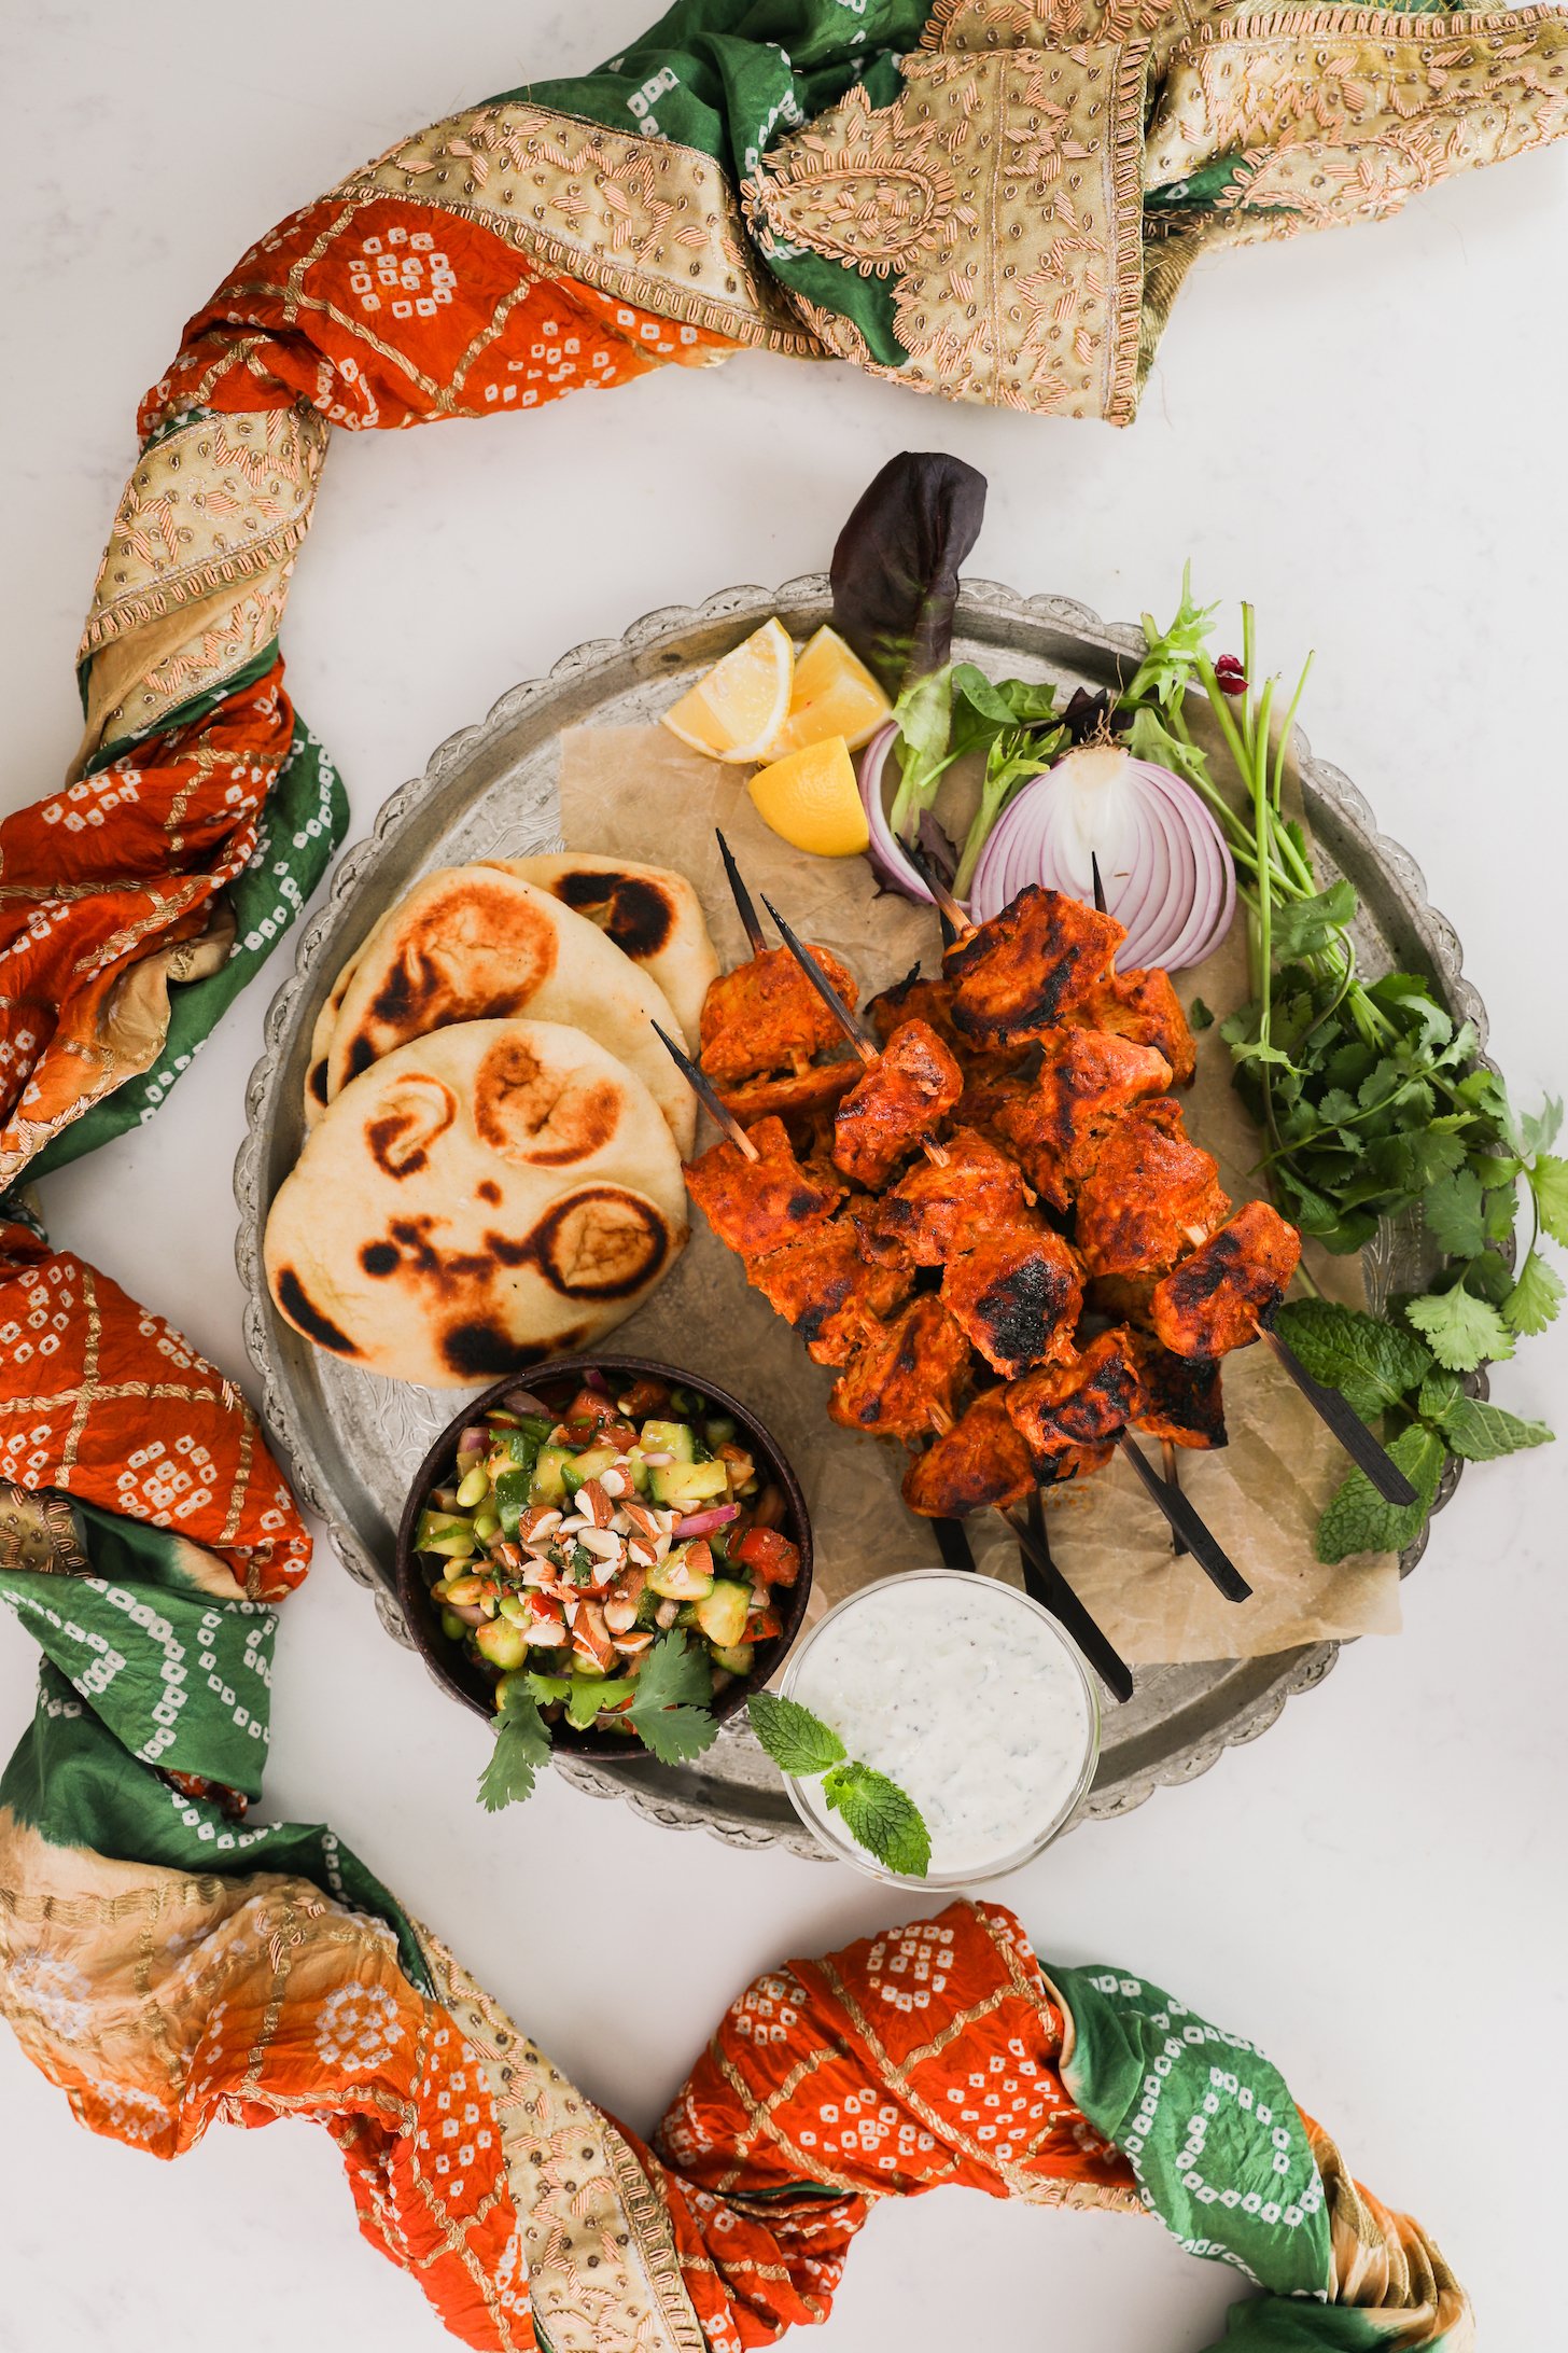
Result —
<instances>
[{"instance_id":1,"label":"round silver tray with scalloped rim under the food","mask_svg":"<svg viewBox=\"0 0 1568 2353\"><path fill-rule=\"evenodd\" d=\"M310 1028L339 967L376 915L428 868L480 856L527 856L559 845L555 795L557 736L564 727L642 725L719 654L780 614L795 638L830 619L825 574L783 588L726 588L705 605L670 605L625 638L578 645L548 678L512 687L477 727L449 736L423 776L381 809L374 833L339 861L331 892L299 941L294 974L266 1016L266 1052L249 1078L247 1141L235 1162L240 1233L235 1257L247 1289L244 1341L261 1377L261 1412L303 1504L331 1534L343 1567L376 1598L376 1612L407 1640L390 1591L393 1539L411 1466L451 1414L435 1393L360 1374L310 1348L275 1313L261 1275L261 1228L273 1193L301 1146L301 1087ZM1025 598L994 581L969 581L959 600L954 659L997 675L1114 685L1126 656L1143 652L1135 626L1100 621L1070 598ZM1373 828L1373 814L1338 767L1314 760L1298 736L1302 798L1324 880L1347 875L1361 894L1356 951L1363 969L1425 972L1455 1019L1486 1042L1486 1009L1460 969L1453 925L1427 906L1415 859ZM1373 1297L1415 1275L1418 1238L1385 1231L1368 1252ZM616 1346L635 1346L637 1320ZM1453 1492L1450 1464L1439 1504ZM1420 1558L1425 1534L1401 1569ZM1154 1788L1192 1781L1225 1748L1258 1739L1286 1699L1324 1680L1338 1642L1314 1642L1269 1659L1140 1668L1128 1706L1105 1729L1086 1817L1128 1814ZM726 1725L701 1765L651 1760L559 1769L599 1798L625 1798L668 1828L705 1828L729 1845L823 1849L797 1821L778 1774L743 1722Z\"/></svg>"}]
</instances>

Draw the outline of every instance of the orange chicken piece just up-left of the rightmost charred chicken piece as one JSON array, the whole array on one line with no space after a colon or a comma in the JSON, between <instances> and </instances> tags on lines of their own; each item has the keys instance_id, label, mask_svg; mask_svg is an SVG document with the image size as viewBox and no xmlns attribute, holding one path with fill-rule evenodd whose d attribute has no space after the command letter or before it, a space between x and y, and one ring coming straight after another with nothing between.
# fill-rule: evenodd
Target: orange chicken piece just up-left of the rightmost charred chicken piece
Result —
<instances>
[{"instance_id":1,"label":"orange chicken piece just up-left of the rightmost charred chicken piece","mask_svg":"<svg viewBox=\"0 0 1568 2353\"><path fill-rule=\"evenodd\" d=\"M1159 1094L1105 1132L1079 1186L1077 1242L1091 1275L1164 1273L1227 1214L1218 1160L1190 1141L1180 1104Z\"/></svg>"}]
</instances>

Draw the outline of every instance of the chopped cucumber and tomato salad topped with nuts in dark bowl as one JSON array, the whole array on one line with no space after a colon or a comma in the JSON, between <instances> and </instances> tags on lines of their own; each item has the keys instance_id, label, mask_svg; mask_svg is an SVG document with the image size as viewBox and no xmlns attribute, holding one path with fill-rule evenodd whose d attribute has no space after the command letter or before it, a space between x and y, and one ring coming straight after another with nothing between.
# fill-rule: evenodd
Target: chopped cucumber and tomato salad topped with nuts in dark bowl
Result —
<instances>
[{"instance_id":1,"label":"chopped cucumber and tomato salad topped with nuts in dark bowl","mask_svg":"<svg viewBox=\"0 0 1568 2353\"><path fill-rule=\"evenodd\" d=\"M494 1678L496 1708L522 1685L545 1722L646 1737L637 1685L665 1635L703 1659L703 1699L750 1675L799 1551L733 1419L644 1377L583 1386L559 1417L512 1405L463 1431L414 1534L442 1633Z\"/></svg>"}]
</instances>

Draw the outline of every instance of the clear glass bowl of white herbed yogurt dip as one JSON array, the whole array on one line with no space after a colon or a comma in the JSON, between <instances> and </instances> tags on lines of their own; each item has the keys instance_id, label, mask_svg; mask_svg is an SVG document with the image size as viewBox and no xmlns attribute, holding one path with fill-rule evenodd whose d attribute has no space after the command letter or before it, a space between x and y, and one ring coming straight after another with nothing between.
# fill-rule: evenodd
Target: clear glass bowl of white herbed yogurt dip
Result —
<instances>
[{"instance_id":1,"label":"clear glass bowl of white herbed yogurt dip","mask_svg":"<svg viewBox=\"0 0 1568 2353\"><path fill-rule=\"evenodd\" d=\"M820 1779L785 1774L835 1857L903 1887L1027 1864L1067 1828L1100 1755L1100 1697L1074 1642L1018 1586L966 1569L910 1569L846 1595L802 1638L780 1692L924 1814L931 1868L917 1880L856 1845Z\"/></svg>"}]
</instances>

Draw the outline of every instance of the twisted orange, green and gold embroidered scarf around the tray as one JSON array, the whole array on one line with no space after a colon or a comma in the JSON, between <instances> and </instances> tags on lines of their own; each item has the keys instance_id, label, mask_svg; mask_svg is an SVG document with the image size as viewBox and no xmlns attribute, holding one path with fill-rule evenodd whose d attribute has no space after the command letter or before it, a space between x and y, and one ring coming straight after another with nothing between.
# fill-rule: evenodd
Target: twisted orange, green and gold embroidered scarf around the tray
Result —
<instances>
[{"instance_id":1,"label":"twisted orange, green and gold embroidered scarf around the tray","mask_svg":"<svg viewBox=\"0 0 1568 2353\"><path fill-rule=\"evenodd\" d=\"M329 426L527 409L748 346L1126 424L1199 252L1380 219L1554 139L1568 19L1201 0L679 0L599 73L292 214L141 409L71 779L0 824L0 1186L148 1118L346 824L277 624ZM308 1539L244 1400L0 1228L0 1593L45 1652L0 1781L0 1998L82 2122L315 2115L470 2346L731 2353L825 2315L882 2195L1152 2209L1237 2344L1472 2344L1432 2242L1239 2035L952 1906L790 1962L656 2151L322 1826L247 1826Z\"/></svg>"}]
</instances>

